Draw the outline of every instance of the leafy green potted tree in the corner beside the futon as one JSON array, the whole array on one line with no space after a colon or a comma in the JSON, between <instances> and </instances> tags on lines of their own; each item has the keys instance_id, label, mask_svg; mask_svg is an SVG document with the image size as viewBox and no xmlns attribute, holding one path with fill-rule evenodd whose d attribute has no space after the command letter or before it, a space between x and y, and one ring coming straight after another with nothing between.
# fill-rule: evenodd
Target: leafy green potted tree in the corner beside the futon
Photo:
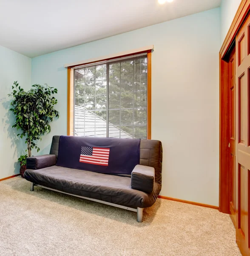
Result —
<instances>
[{"instance_id":1,"label":"leafy green potted tree in the corner beside the futon","mask_svg":"<svg viewBox=\"0 0 250 256\"><path fill-rule=\"evenodd\" d=\"M50 122L55 117L59 117L59 112L54 109L57 99L53 96L57 93L57 89L49 87L47 84L45 86L34 84L32 87L26 92L17 81L14 81L13 91L9 94L13 97L10 111L14 113L16 118L12 128L21 131L17 136L21 139L26 137L25 143L27 144L27 155L22 155L18 159L21 166L20 173L22 168L26 169L26 158L31 157L32 148L35 148L37 152L40 150L37 141L51 131Z\"/></svg>"}]
</instances>

